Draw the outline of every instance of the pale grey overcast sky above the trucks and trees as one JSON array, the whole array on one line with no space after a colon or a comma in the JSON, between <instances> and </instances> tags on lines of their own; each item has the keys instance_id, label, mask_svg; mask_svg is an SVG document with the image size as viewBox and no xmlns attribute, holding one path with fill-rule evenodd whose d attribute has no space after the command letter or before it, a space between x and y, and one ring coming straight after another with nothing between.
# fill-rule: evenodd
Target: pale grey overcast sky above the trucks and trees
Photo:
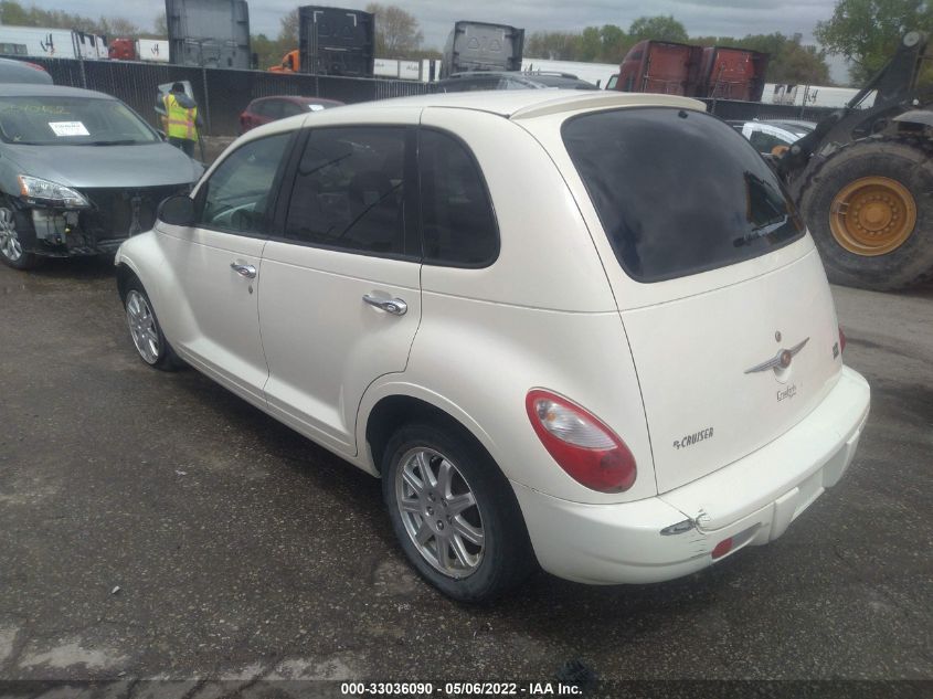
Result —
<instances>
[{"instance_id":1,"label":"pale grey overcast sky above the trucks and trees","mask_svg":"<svg viewBox=\"0 0 933 699\"><path fill-rule=\"evenodd\" d=\"M368 1L341 0L339 7L362 9ZM23 4L29 4L29 0ZM120 15L147 28L165 9L158 0L43 0L38 4L44 9L57 6L95 18ZM250 3L252 32L275 36L279 18L298 4L303 2L253 0ZM383 0L383 4L397 4L412 13L424 32L425 47L439 50L457 20L511 24L531 33L538 30L580 31L584 27L603 24L627 30L632 20L655 14L672 14L693 36L781 32L801 33L804 42L812 42L814 27L819 20L829 18L836 0L469 0L464 4L446 0Z\"/></svg>"}]
</instances>

